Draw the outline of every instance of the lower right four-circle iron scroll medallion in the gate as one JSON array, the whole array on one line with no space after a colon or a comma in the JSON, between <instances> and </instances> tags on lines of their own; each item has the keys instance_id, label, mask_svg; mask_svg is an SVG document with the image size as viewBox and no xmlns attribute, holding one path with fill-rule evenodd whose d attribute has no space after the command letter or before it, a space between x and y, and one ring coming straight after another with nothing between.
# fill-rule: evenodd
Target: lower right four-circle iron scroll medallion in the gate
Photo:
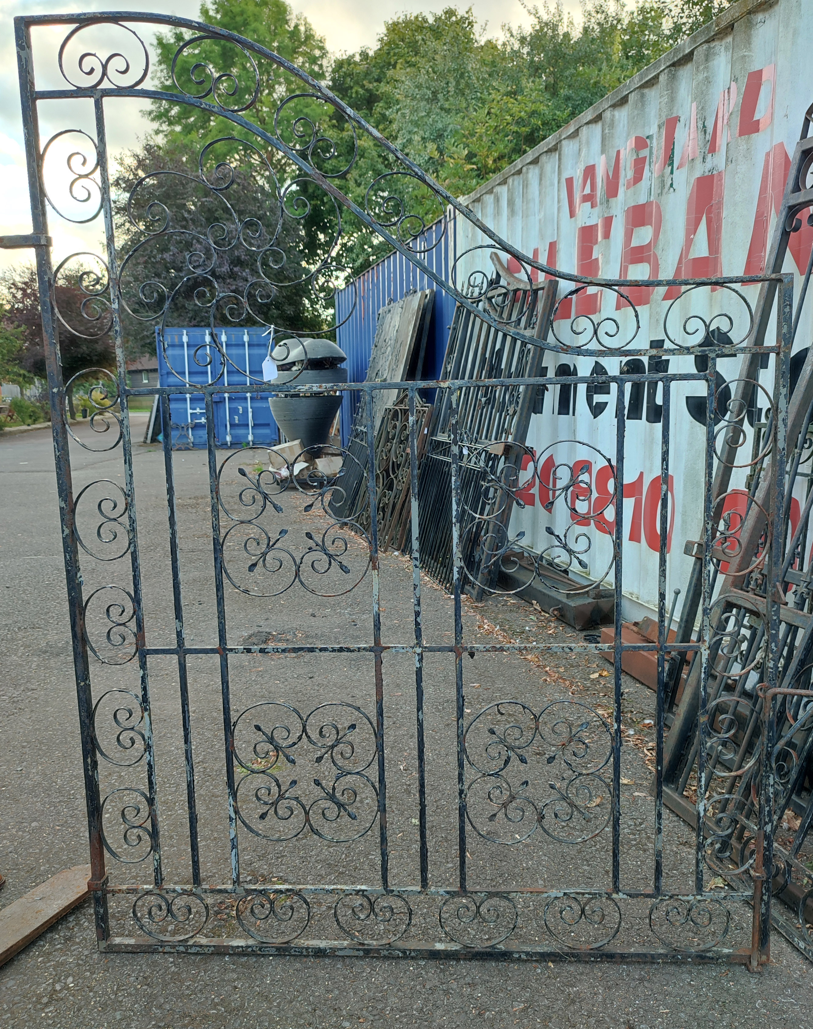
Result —
<instances>
[{"instance_id":1,"label":"lower right four-circle iron scroll medallion in the gate","mask_svg":"<svg viewBox=\"0 0 813 1029\"><path fill-rule=\"evenodd\" d=\"M480 773L466 787L466 817L484 840L516 846L541 829L580 844L608 824L612 787L602 772L612 737L588 705L554 701L535 714L521 701L499 701L470 720L463 739Z\"/></svg>"}]
</instances>

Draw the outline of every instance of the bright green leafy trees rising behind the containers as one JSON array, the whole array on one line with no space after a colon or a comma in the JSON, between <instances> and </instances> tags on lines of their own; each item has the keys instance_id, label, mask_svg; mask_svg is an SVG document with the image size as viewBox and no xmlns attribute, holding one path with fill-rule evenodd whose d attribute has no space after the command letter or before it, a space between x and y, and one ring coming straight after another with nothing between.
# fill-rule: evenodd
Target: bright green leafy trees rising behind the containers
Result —
<instances>
[{"instance_id":1,"label":"bright green leafy trees rising behind the containers","mask_svg":"<svg viewBox=\"0 0 813 1029\"><path fill-rule=\"evenodd\" d=\"M211 0L202 4L201 19L255 40L317 79L325 78L329 66L328 85L341 100L461 196L567 125L731 2L582 0L582 17L576 23L565 16L561 0L544 0L541 7L527 8L529 28L503 26L499 40L486 35L470 8L450 6L436 13L395 17L385 24L376 46L331 63L325 41L303 16L294 16L284 0ZM248 104L254 72L247 56L229 42L205 41L183 51L173 84L173 57L186 38L182 32L160 37L162 86L177 92L180 85L203 97L214 83L225 107ZM210 73L209 67L216 72ZM249 116L260 130L313 158L326 172L349 169L339 175L343 190L362 209L384 215L379 220L403 239L441 214L441 205L428 190L406 176L393 176L399 170L397 162L375 138L354 133L341 111L301 97L278 115L279 104L302 93L303 84L261 58L257 67L258 100ZM293 194L299 188L301 173L290 157L223 122L214 112L155 104L150 116L167 143L183 141L200 148L223 135L251 139L283 192L290 183ZM309 149L310 144L314 145ZM249 151L246 154L255 159ZM309 202L302 250L313 255L327 238L324 226L332 217L332 201L322 193ZM414 217L398 219L398 214ZM352 214L343 214L342 227L338 258L353 273L387 252L387 244Z\"/></svg>"}]
</instances>

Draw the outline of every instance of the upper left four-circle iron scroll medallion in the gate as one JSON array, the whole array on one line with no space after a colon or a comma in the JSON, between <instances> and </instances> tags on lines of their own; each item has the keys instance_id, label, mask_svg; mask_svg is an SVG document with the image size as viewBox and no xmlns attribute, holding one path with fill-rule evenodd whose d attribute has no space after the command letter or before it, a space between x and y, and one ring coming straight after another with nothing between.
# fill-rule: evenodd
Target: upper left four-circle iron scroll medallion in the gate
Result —
<instances>
[{"instance_id":1,"label":"upper left four-circle iron scroll medallion in the gate","mask_svg":"<svg viewBox=\"0 0 813 1029\"><path fill-rule=\"evenodd\" d=\"M369 537L358 522L332 513L345 496L344 476L355 460L352 454L334 447L310 447L279 467L255 464L249 469L251 453L249 449L232 454L217 473L220 507L233 523L221 539L228 581L251 597L276 597L295 582L318 597L350 593L364 579L372 561ZM261 454L258 460L268 460L267 452ZM284 517L283 503L294 498L306 501L304 513L318 505L327 519L319 531L305 531L307 543L298 553L286 538L289 529L274 524ZM269 520L262 522L263 516Z\"/></svg>"}]
</instances>

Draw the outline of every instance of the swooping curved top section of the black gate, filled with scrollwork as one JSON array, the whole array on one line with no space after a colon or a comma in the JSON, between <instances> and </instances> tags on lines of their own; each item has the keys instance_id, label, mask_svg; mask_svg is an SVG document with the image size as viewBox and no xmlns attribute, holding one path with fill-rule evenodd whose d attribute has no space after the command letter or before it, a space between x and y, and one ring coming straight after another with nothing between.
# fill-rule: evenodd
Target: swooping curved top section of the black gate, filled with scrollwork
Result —
<instances>
[{"instance_id":1,"label":"swooping curved top section of the black gate, filled with scrollwork","mask_svg":"<svg viewBox=\"0 0 813 1029\"><path fill-rule=\"evenodd\" d=\"M59 210L55 200L47 196L50 206L68 220L87 222L102 214L110 217L110 186L107 172L107 143L104 136L102 101L108 98L138 97L170 104L184 104L200 108L231 123L229 130L216 139L205 142L200 153L197 174L185 177L189 184L207 190L220 205L221 215L208 227L205 235L184 229L173 220L174 212L160 199L150 196L162 176L179 175L174 171L156 170L143 175L133 186L128 201L128 216L143 232L143 239L128 253L116 254L115 246L108 240L107 259L92 254L73 254L61 262L55 277L67 274L71 261L83 259L84 267L78 284L85 294L81 315L82 328L75 324L68 327L78 334L93 335L106 331L115 321L116 308L120 305L144 321L164 329L171 323L173 301L179 291L191 293L195 303L208 309L212 343L199 348L195 360L212 365L219 360L219 372L214 368L213 382L219 380L222 369L231 359L220 348L214 332L216 320L239 324L250 315L260 324L270 325L262 308L280 290L290 286L308 286L324 304L344 284L349 276L342 268L341 239L342 211L351 211L372 232L378 234L394 249L400 251L429 279L468 309L475 317L492 328L508 332L516 340L539 346L539 338L530 329L521 327L524 313L514 303L518 290L526 290L528 303L534 290L542 284L538 280L555 278L569 284L563 289L554 311L551 333L544 341L549 350L562 353L579 353L601 357L612 353L624 356L646 354L663 355L663 345L674 347L676 356L716 354L719 356L745 352L755 335L754 312L742 291L747 284L764 283L769 291L775 289L781 276L716 277L713 279L604 279L590 278L551 268L528 256L511 242L502 239L485 224L458 198L423 172L414 162L388 142L375 128L333 96L302 69L279 55L224 29L182 17L140 12L100 12L87 14L43 14L21 16L15 21L17 48L28 55L31 96L36 103L41 100L75 100L87 98L96 106L98 135L94 139L78 129L61 129L44 145L34 141L40 174L46 166L57 140L68 142L72 137L75 149L67 156L66 167L70 177L67 194L78 205L86 204L80 217L68 217ZM150 51L139 36L139 26L167 27L187 33L177 42L172 58L171 77L177 92L151 88ZM34 84L34 67L31 58L31 29L33 27L65 27L56 57L54 73L58 75L58 88L40 90ZM83 36L94 29L103 29L96 40L84 43ZM94 43L101 40L104 48ZM234 47L234 55L242 62L242 70L234 65L218 68L214 60L222 47ZM219 50L218 50L219 47ZM263 73L267 64L281 73L281 80L272 81L275 110L270 119L271 128L263 128L250 114L262 96ZM285 83L285 78L289 81ZM64 84L63 84L64 83ZM281 92L281 85L285 90ZM316 117L316 109L324 111L324 119ZM344 122L352 143L349 156L343 154L337 118ZM36 123L36 121L34 122ZM250 134L253 142L235 135ZM346 139L346 138L345 138ZM229 203L227 190L234 181L235 168L229 159L218 159L219 145L246 147L251 158L258 162L268 173L276 201L276 224L263 225L252 214L241 217ZM369 145L381 148L388 163L388 170L372 179L362 190L363 206L356 203L342 185L350 177L356 180L363 175L363 150ZM289 162L289 172L278 174L270 159L271 147L276 155ZM208 166L213 166L209 168ZM808 168L802 171L807 176ZM311 267L301 274L288 275L287 254L281 230L284 218L303 219L312 211L310 190L318 187L329 203L327 210L333 221L329 230L322 230L322 252ZM422 190L423 212L411 209L411 197ZM359 193L360 194L360 193ZM437 246L447 230L450 218L463 219L473 241L454 261L451 281L444 280L424 260L427 249L423 232L427 225L426 199L436 215L444 219L443 232L434 235L431 247ZM107 210L105 210L107 205ZM86 212L86 214L84 213ZM793 217L794 214L791 214ZM140 219L140 220L139 220ZM139 255L156 238L173 243L182 254L183 274L173 284L154 280L130 283L137 278ZM221 286L214 273L219 251L241 245L256 260L257 278L245 287L243 293ZM184 252L185 251L185 252ZM87 263L92 268L87 268ZM288 268L295 267L295 260ZM135 273L135 274L134 274ZM253 275L253 271L252 271ZM655 290L665 292L656 296ZM603 295L596 300L591 289L601 289L614 295L611 314L602 314ZM706 289L709 300L705 314L698 311L691 294ZM592 303L585 303L589 297ZM636 303L636 300L638 303ZM683 307L682 301L686 300ZM661 335L653 349L648 339L642 339L641 318L638 307L649 305L648 336ZM728 304L733 305L730 311ZM691 306L690 306L691 305ZM656 309L656 310L652 310ZM656 313L657 311L657 313ZM60 313L61 320L64 320ZM658 332L651 330L653 318L660 320ZM67 325L67 322L65 322ZM90 325L90 328L87 327ZM335 325L321 332L308 330L307 334L324 334ZM277 326L280 329L280 326ZM285 331L303 331L296 325L284 326ZM247 375L247 369L238 369ZM185 377L176 371L178 378Z\"/></svg>"}]
</instances>

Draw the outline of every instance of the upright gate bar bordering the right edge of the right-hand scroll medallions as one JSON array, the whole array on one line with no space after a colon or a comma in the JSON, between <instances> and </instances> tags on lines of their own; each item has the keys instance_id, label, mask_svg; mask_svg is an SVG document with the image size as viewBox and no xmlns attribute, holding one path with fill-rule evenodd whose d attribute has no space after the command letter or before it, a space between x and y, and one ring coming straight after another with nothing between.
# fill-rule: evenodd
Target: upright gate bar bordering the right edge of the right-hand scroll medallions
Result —
<instances>
[{"instance_id":1,"label":"upright gate bar bordering the right edge of the right-hand scroll medallions","mask_svg":"<svg viewBox=\"0 0 813 1029\"><path fill-rule=\"evenodd\" d=\"M613 724L612 724L612 889L621 890L621 733L622 733L622 592L624 580L624 441L627 432L626 412L624 407L625 384L615 381L615 578L614 578L614 616L615 635L613 639Z\"/></svg>"}]
</instances>

